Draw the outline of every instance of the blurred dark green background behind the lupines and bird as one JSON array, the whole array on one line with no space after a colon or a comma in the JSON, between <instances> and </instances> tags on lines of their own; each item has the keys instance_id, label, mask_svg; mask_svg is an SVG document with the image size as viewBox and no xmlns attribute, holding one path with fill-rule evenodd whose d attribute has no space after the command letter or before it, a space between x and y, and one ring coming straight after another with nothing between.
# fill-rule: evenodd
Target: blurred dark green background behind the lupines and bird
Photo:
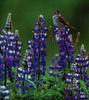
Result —
<instances>
[{"instance_id":1,"label":"blurred dark green background behind the lupines and bird","mask_svg":"<svg viewBox=\"0 0 89 100\"><path fill-rule=\"evenodd\" d=\"M14 30L19 29L24 54L27 41L32 39L32 29L40 14L46 18L47 26L52 25L52 14L59 9L62 15L81 33L80 45L89 50L89 0L0 0L0 27L4 26L7 14L12 13ZM75 37L77 31L72 31ZM47 64L58 51L56 42L47 39Z\"/></svg>"}]
</instances>

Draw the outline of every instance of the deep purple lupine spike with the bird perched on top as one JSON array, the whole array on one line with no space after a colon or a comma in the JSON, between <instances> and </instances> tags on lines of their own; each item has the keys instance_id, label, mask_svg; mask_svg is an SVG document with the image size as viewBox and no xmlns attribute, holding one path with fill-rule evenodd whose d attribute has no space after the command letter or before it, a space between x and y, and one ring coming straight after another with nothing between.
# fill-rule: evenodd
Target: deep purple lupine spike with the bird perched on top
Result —
<instances>
[{"instance_id":1,"label":"deep purple lupine spike with the bird perched on top","mask_svg":"<svg viewBox=\"0 0 89 100\"><path fill-rule=\"evenodd\" d=\"M56 23L58 22L56 21ZM66 68L67 66L70 66L74 60L74 47L72 45L72 36L69 35L69 28L63 25L61 27L61 24L59 24L60 23L58 23L56 26L54 24L55 38L60 48L60 60L58 65L61 68Z\"/></svg>"}]
</instances>

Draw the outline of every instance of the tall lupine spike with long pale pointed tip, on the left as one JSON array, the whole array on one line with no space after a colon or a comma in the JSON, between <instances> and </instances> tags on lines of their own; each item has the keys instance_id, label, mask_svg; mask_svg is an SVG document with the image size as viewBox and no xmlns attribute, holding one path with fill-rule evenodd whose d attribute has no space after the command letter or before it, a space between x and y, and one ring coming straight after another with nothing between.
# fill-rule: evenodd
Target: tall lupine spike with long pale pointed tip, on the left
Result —
<instances>
[{"instance_id":1,"label":"tall lupine spike with long pale pointed tip, on the left","mask_svg":"<svg viewBox=\"0 0 89 100\"><path fill-rule=\"evenodd\" d=\"M7 80L7 76L6 76L7 70L8 70L8 76L10 81L13 81L11 67L14 65L14 57L12 55L14 54L15 47L13 46L14 34L11 31L12 31L12 20L11 20L11 13L9 13L5 23L5 28L3 29L3 33L4 33L3 41L5 42L3 46L4 63L5 63L5 86Z\"/></svg>"}]
</instances>

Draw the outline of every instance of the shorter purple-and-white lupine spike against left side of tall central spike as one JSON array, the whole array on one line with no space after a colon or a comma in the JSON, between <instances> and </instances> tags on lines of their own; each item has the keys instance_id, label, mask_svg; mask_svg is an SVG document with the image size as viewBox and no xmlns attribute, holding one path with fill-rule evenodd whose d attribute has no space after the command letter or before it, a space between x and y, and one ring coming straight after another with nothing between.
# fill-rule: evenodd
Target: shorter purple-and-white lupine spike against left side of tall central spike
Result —
<instances>
[{"instance_id":1,"label":"shorter purple-and-white lupine spike against left side of tall central spike","mask_svg":"<svg viewBox=\"0 0 89 100\"><path fill-rule=\"evenodd\" d=\"M36 68L34 66L34 61L33 61L33 51L32 51L33 41L29 41L28 43L29 43L29 48L26 50L25 56L22 61L22 65L24 66L24 69L27 70L29 75L31 76L30 80L34 80Z\"/></svg>"}]
</instances>

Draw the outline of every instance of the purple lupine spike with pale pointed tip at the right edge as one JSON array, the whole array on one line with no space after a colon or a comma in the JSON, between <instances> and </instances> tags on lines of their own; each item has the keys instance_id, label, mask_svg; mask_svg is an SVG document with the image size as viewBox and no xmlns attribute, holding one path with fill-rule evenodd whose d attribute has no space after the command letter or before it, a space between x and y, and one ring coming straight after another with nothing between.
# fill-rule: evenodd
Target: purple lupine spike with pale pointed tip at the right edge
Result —
<instances>
[{"instance_id":1,"label":"purple lupine spike with pale pointed tip at the right edge","mask_svg":"<svg viewBox=\"0 0 89 100\"><path fill-rule=\"evenodd\" d=\"M80 55L77 56L76 60L75 60L75 64L76 64L76 73L79 73L79 75L81 76L81 80L86 81L86 76L87 75L87 70L89 67L89 58L86 55L86 50L84 48L84 45L81 46L81 50L80 50Z\"/></svg>"}]
</instances>

